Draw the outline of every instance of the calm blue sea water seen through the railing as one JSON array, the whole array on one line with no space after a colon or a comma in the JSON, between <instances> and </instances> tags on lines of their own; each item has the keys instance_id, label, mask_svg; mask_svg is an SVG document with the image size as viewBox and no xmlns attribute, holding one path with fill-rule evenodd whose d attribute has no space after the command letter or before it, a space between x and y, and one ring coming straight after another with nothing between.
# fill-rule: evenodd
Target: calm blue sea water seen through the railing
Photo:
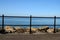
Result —
<instances>
[{"instance_id":1,"label":"calm blue sea water seen through the railing","mask_svg":"<svg viewBox=\"0 0 60 40\"><path fill-rule=\"evenodd\" d=\"M0 25L2 25L2 18L0 17ZM4 18L4 25L30 25L30 18ZM53 18L32 18L32 25L54 25ZM56 19L56 25L60 25L60 19ZM28 26L22 26L28 27ZM32 26L42 27L42 26ZM50 28L54 26L49 26ZM60 26L56 26L60 28Z\"/></svg>"}]
</instances>

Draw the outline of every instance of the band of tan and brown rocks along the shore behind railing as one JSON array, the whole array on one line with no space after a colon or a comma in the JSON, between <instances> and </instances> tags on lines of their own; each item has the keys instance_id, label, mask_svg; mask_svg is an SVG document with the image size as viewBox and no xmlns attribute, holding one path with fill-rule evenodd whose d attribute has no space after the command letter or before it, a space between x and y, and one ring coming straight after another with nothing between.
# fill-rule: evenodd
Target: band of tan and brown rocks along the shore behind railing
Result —
<instances>
[{"instance_id":1,"label":"band of tan and brown rocks along the shore behind railing","mask_svg":"<svg viewBox=\"0 0 60 40\"><path fill-rule=\"evenodd\" d=\"M22 27L11 27L11 26L5 26L4 30L6 33L28 33L30 32L30 28L22 28ZM1 29L0 29L1 31ZM56 32L59 32L60 29L56 29ZM54 33L54 29L53 28L49 28L48 26L42 26L39 28L31 28L31 32L32 33Z\"/></svg>"}]
</instances>

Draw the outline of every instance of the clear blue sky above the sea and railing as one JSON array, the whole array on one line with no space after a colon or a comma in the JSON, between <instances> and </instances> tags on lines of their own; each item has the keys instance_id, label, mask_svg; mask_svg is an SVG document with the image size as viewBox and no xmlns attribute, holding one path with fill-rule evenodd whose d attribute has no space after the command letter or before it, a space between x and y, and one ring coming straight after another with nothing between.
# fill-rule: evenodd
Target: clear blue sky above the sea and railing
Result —
<instances>
[{"instance_id":1,"label":"clear blue sky above the sea and railing","mask_svg":"<svg viewBox=\"0 0 60 40\"><path fill-rule=\"evenodd\" d=\"M60 0L0 0L0 15L60 16Z\"/></svg>"}]
</instances>

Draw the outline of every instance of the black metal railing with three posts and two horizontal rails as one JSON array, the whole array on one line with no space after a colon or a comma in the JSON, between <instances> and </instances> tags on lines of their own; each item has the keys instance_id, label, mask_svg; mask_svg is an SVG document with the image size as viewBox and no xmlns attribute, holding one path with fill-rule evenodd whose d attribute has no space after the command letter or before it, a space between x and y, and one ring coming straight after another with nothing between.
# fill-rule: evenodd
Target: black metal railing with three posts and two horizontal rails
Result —
<instances>
[{"instance_id":1,"label":"black metal railing with three posts and two horizontal rails","mask_svg":"<svg viewBox=\"0 0 60 40\"><path fill-rule=\"evenodd\" d=\"M32 33L31 32L31 27L32 26L54 26L54 33L56 33L56 31L55 31L55 29L56 29L56 26L60 26L60 25L56 25L56 19L60 19L60 17L56 17L56 16L54 16L54 17L33 17L32 15L30 15L30 16L4 16L4 15L2 15L2 16L0 16L0 17L2 17L2 25L0 25L0 26L2 26L2 30L4 30L4 26L7 26L7 25L5 25L4 24L4 18L5 17L8 17L8 18L30 18L30 24L29 25L9 25L9 26L30 26L30 34ZM54 24L53 25L32 25L32 18L53 18L54 19ZM3 31L4 32L4 31Z\"/></svg>"}]
</instances>

